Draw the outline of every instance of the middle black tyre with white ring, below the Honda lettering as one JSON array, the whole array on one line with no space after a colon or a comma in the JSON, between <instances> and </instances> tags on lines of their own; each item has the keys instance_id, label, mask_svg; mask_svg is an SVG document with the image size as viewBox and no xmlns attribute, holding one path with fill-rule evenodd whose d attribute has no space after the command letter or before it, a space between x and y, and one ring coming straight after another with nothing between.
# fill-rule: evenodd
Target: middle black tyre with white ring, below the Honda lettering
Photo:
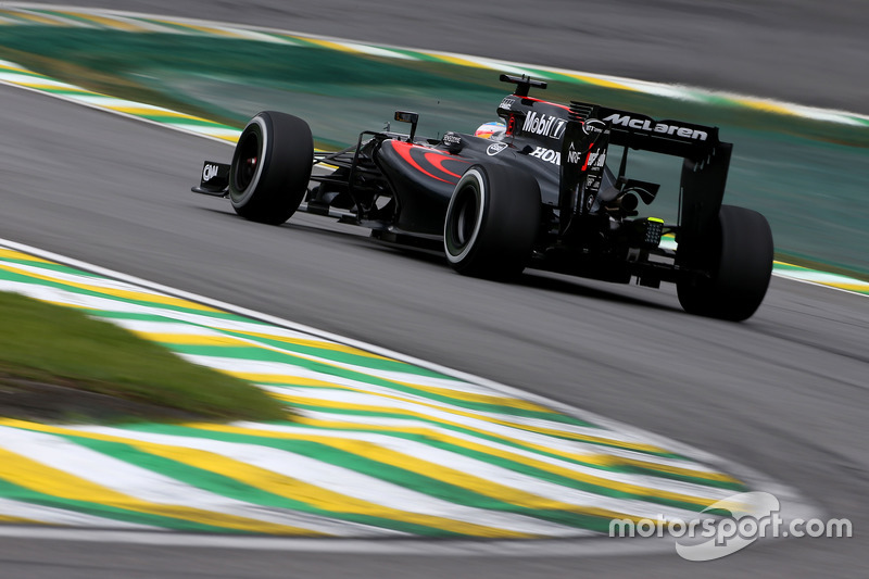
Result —
<instances>
[{"instance_id":1,"label":"middle black tyre with white ring, below the Honda lettering","mask_svg":"<svg viewBox=\"0 0 869 579\"><path fill-rule=\"evenodd\" d=\"M540 187L505 165L473 165L453 190L443 248L459 274L504 279L519 275L540 228Z\"/></svg>"}]
</instances>

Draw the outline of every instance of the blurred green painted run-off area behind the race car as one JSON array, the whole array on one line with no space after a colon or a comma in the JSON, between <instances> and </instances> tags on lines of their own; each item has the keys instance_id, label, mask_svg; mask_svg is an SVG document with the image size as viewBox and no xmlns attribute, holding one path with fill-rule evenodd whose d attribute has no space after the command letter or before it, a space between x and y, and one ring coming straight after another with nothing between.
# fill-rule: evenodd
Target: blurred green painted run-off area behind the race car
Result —
<instances>
[{"instance_id":1,"label":"blurred green painted run-off area behind the race car","mask_svg":"<svg viewBox=\"0 0 869 579\"><path fill-rule=\"evenodd\" d=\"M262 110L305 118L323 148L380 129L395 110L420 113L420 135L473 131L496 119L511 89L498 74L443 62L210 36L3 27L0 58L99 92L241 127ZM779 257L869 279L869 128L551 80L539 95L717 125L734 143L726 203L770 221ZM617 161L617 155L614 155ZM632 156L630 176L662 182L647 210L672 219L679 162Z\"/></svg>"}]
</instances>

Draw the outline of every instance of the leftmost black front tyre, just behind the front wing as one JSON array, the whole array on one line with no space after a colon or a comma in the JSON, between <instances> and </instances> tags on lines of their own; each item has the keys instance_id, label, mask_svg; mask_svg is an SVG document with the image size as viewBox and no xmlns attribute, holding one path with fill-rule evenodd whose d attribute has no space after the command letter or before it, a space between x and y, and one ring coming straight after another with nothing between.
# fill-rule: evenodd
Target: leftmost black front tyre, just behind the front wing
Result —
<instances>
[{"instance_id":1,"label":"leftmost black front tyre, just behind the front wing","mask_svg":"<svg viewBox=\"0 0 869 579\"><path fill-rule=\"evenodd\" d=\"M264 111L241 133L229 168L229 200L242 217L280 225L299 209L314 162L314 139L299 117Z\"/></svg>"}]
</instances>

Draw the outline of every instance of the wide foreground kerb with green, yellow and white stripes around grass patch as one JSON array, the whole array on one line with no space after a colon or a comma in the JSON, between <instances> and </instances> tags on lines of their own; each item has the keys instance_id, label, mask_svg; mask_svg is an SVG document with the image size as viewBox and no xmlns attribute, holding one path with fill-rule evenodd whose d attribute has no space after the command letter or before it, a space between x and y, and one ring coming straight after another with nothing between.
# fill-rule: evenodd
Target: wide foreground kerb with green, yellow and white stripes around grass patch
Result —
<instances>
[{"instance_id":1,"label":"wide foreground kerb with green, yellow and white stripes around grass patch","mask_svg":"<svg viewBox=\"0 0 869 579\"><path fill-rule=\"evenodd\" d=\"M564 538L698 516L748 487L483 383L0 246L0 290L267 378L272 424L0 419L0 520L305 537ZM205 385L203 385L204 387Z\"/></svg>"}]
</instances>

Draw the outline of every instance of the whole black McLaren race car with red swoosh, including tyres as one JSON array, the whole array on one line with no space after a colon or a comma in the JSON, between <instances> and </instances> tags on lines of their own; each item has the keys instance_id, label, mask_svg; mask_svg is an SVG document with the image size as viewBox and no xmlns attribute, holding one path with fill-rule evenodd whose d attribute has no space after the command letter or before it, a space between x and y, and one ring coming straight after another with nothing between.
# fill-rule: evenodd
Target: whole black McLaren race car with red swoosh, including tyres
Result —
<instances>
[{"instance_id":1,"label":"whole black McLaren race car with red swoosh, including tyres","mask_svg":"<svg viewBox=\"0 0 869 579\"><path fill-rule=\"evenodd\" d=\"M239 215L265 224L295 211L330 215L383 241L441 251L466 275L503 279L532 267L668 281L690 313L754 314L772 270L772 234L759 213L721 204L732 144L716 127L556 104L529 97L545 83L501 80L516 90L498 106L502 134L490 138L418 138L418 115L400 111L410 134L366 130L355 146L322 153L304 121L262 112L232 162L205 162L193 191L228 197ZM617 174L606 164L610 147L624 148ZM678 223L638 216L660 187L627 176L629 149L683 159ZM330 171L312 175L315 165ZM662 244L666 234L676 249Z\"/></svg>"}]
</instances>

